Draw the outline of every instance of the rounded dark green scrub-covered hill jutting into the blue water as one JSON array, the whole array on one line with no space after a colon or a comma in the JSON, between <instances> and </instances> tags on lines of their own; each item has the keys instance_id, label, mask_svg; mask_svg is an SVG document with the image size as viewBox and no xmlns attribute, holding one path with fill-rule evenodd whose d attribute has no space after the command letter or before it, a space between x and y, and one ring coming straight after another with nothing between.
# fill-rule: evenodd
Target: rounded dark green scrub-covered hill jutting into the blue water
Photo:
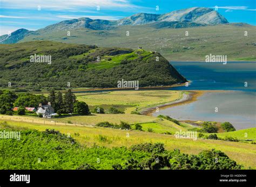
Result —
<instances>
[{"instance_id":1,"label":"rounded dark green scrub-covered hill jutting into the blue water","mask_svg":"<svg viewBox=\"0 0 256 187\"><path fill-rule=\"evenodd\" d=\"M159 53L143 49L32 41L0 45L1 85L12 88L115 88L117 81L139 87L172 85L186 79ZM31 55L51 56L51 63L31 62ZM15 75L15 76L14 76Z\"/></svg>"}]
</instances>

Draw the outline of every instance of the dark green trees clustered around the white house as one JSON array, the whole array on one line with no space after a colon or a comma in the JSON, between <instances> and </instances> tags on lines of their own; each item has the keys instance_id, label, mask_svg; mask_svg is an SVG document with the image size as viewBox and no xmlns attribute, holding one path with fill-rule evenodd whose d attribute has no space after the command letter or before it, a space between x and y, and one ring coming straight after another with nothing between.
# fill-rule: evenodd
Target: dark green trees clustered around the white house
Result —
<instances>
[{"instance_id":1,"label":"dark green trees clustered around the white house","mask_svg":"<svg viewBox=\"0 0 256 187\"><path fill-rule=\"evenodd\" d=\"M89 106L85 102L79 102L76 100L75 94L71 89L65 91L64 96L62 92L52 89L48 97L44 95L33 95L31 93L19 93L10 90L0 90L0 113L12 115L14 113L13 108L19 107L18 114L24 115L26 112L25 107L35 107L41 103L42 105L51 103L53 109L61 114L78 113L78 114L90 114ZM29 113L29 112L28 112Z\"/></svg>"}]
</instances>

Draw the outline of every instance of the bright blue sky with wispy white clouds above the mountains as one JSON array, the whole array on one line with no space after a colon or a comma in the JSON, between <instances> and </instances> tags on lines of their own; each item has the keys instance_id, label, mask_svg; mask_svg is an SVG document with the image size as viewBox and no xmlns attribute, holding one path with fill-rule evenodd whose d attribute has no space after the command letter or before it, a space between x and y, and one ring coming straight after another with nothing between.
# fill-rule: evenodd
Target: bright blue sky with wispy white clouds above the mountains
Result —
<instances>
[{"instance_id":1,"label":"bright blue sky with wispy white clouds above the mountains","mask_svg":"<svg viewBox=\"0 0 256 187\"><path fill-rule=\"evenodd\" d=\"M195 6L218 6L230 23L256 25L255 4L255 0L0 0L0 35L18 28L37 30L73 18L115 20L140 12L161 14Z\"/></svg>"}]
</instances>

